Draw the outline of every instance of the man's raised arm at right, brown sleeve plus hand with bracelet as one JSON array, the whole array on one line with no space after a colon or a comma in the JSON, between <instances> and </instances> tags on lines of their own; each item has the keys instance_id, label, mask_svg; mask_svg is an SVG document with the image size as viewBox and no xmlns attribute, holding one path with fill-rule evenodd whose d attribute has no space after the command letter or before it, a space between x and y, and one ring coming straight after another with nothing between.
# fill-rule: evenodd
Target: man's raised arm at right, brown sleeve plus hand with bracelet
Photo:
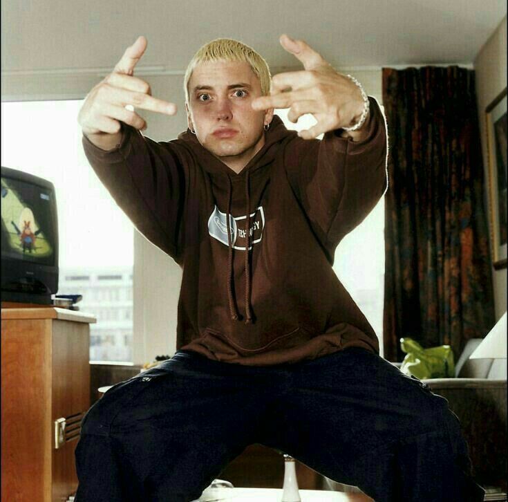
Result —
<instances>
[{"instance_id":1,"label":"man's raised arm at right, brown sleeve plus hand with bracelet","mask_svg":"<svg viewBox=\"0 0 508 502\"><path fill-rule=\"evenodd\" d=\"M287 145L285 169L294 195L332 261L344 235L363 221L386 190L384 117L371 97L364 124L357 131L344 131L358 122L365 109L359 86L304 41L283 35L281 44L304 69L275 75L271 94L252 106L290 108L292 122L305 113L316 118L314 127L301 131L300 138ZM325 133L323 140L315 140L321 133Z\"/></svg>"}]
</instances>

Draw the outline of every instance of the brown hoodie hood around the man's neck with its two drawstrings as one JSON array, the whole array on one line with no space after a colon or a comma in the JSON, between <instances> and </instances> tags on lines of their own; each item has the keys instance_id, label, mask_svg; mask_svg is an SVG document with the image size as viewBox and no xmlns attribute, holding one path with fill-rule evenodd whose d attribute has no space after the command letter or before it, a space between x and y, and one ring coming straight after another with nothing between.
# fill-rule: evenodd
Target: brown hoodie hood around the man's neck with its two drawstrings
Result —
<instances>
[{"instance_id":1,"label":"brown hoodie hood around the man's neck with its two drawstrings","mask_svg":"<svg viewBox=\"0 0 508 502\"><path fill-rule=\"evenodd\" d=\"M279 151L279 144L286 139L294 138L297 136L295 131L288 131L283 124L281 118L274 115L270 128L265 131L265 145L257 152L257 154L247 163L247 165L239 172L236 173L233 169L229 168L219 158L211 154L210 151L205 149L200 144L198 138L190 129L178 136L178 139L187 143L189 148L194 152L198 158L198 162L203 166L203 169L214 178L214 182L218 185L225 183L227 189L227 210L226 210L226 224L227 224L227 241L228 241L228 264L227 264L227 297L229 301L229 315L233 321L239 321L238 306L234 297L234 265L233 265L233 243L232 243L232 194L233 194L233 181L234 179L243 178L245 182L245 227L244 232L247 236L247 243L245 245L245 324L254 322L252 316L252 308L250 305L252 278L250 276L250 250L251 250L251 235L250 235L250 222L251 222L251 189L250 177L254 171L269 165L275 158L277 151Z\"/></svg>"}]
</instances>

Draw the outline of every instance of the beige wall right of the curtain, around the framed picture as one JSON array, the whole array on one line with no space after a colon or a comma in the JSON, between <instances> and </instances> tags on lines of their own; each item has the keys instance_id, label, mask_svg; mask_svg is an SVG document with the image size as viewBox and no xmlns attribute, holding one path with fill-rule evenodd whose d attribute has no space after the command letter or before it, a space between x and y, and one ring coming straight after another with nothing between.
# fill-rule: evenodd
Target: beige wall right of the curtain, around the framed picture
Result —
<instances>
[{"instance_id":1,"label":"beige wall right of the curtain, around the framed picture","mask_svg":"<svg viewBox=\"0 0 508 502\"><path fill-rule=\"evenodd\" d=\"M485 190L489 186L487 138L485 125L485 108L507 86L507 18L502 20L485 46L478 53L474 62L476 71L476 94L478 96L478 115L480 117L480 135L482 138L483 160L485 166ZM489 207L486 193L486 207ZM491 243L492 245L492 243ZM507 270L494 270L494 297L496 303L496 319L506 311L507 304Z\"/></svg>"}]
</instances>

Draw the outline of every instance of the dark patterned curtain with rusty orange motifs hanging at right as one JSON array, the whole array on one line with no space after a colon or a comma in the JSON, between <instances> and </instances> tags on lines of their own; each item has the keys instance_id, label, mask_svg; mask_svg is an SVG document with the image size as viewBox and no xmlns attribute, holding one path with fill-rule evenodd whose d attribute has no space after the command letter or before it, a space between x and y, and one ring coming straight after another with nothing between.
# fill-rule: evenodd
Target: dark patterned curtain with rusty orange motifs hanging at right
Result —
<instances>
[{"instance_id":1,"label":"dark patterned curtain with rusty orange motifs hanging at right","mask_svg":"<svg viewBox=\"0 0 508 502\"><path fill-rule=\"evenodd\" d=\"M383 104L384 357L402 361L411 337L450 345L456 361L495 320L474 72L383 68Z\"/></svg>"}]
</instances>

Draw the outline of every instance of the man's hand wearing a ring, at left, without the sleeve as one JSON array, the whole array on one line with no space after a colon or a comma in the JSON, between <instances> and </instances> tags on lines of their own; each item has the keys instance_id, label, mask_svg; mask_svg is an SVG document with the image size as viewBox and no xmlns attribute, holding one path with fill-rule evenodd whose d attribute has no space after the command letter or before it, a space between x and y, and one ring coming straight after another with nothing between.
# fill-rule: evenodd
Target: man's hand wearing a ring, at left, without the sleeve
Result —
<instances>
[{"instance_id":1,"label":"man's hand wearing a ring, at left, without the sleeve","mask_svg":"<svg viewBox=\"0 0 508 502\"><path fill-rule=\"evenodd\" d=\"M146 129L147 122L133 108L175 115L176 104L151 96L149 84L133 77L134 67L147 48L147 39L138 37L126 48L115 69L86 96L77 116L84 135L104 150L113 149L122 139L120 122Z\"/></svg>"}]
</instances>

